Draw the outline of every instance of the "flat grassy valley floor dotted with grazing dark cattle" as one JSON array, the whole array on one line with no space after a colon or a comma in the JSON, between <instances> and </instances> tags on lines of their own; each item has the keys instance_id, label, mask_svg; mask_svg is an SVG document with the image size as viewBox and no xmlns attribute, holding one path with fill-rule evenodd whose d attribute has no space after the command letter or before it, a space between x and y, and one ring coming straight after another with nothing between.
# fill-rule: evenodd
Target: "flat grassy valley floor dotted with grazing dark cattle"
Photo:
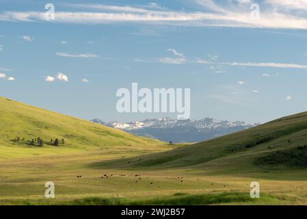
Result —
<instances>
[{"instance_id":1,"label":"flat grassy valley floor dotted with grazing dark cattle","mask_svg":"<svg viewBox=\"0 0 307 219\"><path fill-rule=\"evenodd\" d=\"M305 170L247 167L237 171L233 166L228 171L223 161L191 168L147 170L97 165L109 159L169 149L165 146L129 151L123 147L114 152L110 147L66 155L0 159L0 204L307 205ZM224 164L231 166L227 161ZM46 181L55 183L55 198L44 197ZM261 184L261 198L250 198L252 181Z\"/></svg>"}]
</instances>

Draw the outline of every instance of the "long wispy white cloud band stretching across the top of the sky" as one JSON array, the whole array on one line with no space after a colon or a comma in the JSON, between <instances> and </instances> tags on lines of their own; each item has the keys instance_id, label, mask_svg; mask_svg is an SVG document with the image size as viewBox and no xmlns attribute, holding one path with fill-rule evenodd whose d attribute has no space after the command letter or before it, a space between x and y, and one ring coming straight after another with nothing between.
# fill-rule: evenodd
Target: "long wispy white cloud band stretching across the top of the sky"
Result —
<instances>
[{"instance_id":1,"label":"long wispy white cloud band stretching across the top of the sky","mask_svg":"<svg viewBox=\"0 0 307 219\"><path fill-rule=\"evenodd\" d=\"M210 27L245 27L271 29L307 29L306 1L267 0L260 4L259 19L252 18L248 0L195 0L195 12L167 10L157 5L76 4L82 11L57 11L57 23L152 23L156 25L187 25ZM84 10L89 10L88 12ZM94 10L94 11L93 11ZM2 12L1 21L46 21L44 12Z\"/></svg>"}]
</instances>

